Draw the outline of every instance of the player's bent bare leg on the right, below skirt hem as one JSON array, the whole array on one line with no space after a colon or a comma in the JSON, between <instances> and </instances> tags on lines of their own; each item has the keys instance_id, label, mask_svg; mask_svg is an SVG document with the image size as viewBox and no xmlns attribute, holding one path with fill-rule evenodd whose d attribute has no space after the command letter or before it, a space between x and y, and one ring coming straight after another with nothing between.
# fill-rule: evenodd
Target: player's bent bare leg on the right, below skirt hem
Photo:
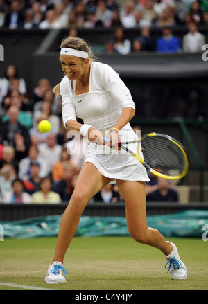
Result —
<instances>
[{"instance_id":1,"label":"player's bent bare leg on the right, below skirt hem","mask_svg":"<svg viewBox=\"0 0 208 304\"><path fill-rule=\"evenodd\" d=\"M173 247L162 234L148 227L146 222L146 195L143 181L117 180L119 190L125 200L125 213L128 231L137 242L148 244L161 250L166 256Z\"/></svg>"}]
</instances>

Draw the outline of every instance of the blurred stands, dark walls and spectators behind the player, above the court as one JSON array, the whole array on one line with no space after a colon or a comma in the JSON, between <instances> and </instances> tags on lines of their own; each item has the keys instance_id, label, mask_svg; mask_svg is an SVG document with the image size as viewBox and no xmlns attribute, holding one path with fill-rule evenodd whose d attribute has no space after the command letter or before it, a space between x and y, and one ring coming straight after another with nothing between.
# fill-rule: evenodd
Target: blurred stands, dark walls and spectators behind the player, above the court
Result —
<instances>
[{"instance_id":1,"label":"blurred stands, dark walls and spectators behind the player, above the court","mask_svg":"<svg viewBox=\"0 0 208 304\"><path fill-rule=\"evenodd\" d=\"M0 220L60 215L73 192L87 143L67 136L51 91L68 35L119 73L137 107L135 132L168 134L187 148L186 177L146 185L148 215L207 209L208 1L0 0ZM37 130L43 119L46 134ZM83 215L124 216L116 185Z\"/></svg>"}]
</instances>

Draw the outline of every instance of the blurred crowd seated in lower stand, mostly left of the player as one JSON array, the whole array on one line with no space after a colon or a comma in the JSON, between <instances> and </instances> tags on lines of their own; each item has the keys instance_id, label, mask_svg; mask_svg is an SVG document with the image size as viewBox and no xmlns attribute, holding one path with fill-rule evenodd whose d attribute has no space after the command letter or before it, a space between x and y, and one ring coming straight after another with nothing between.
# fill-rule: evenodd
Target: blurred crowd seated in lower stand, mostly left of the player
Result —
<instances>
[{"instance_id":1,"label":"blurred crowd seated in lower stand, mostly left of the player","mask_svg":"<svg viewBox=\"0 0 208 304\"><path fill-rule=\"evenodd\" d=\"M40 79L29 96L26 82L17 68L9 65L0 80L0 203L59 204L68 202L87 150L87 139L67 132L62 123L61 97L55 98L51 84ZM15 85L14 85L15 84ZM39 132L42 119L51 122L51 130ZM138 128L135 128L137 132ZM147 188L151 200L158 199L160 184ZM150 185L151 186L151 185ZM166 184L166 189L171 185ZM172 191L172 190L171 190ZM165 199L170 197L163 191ZM92 202L116 203L123 200L116 184L109 184Z\"/></svg>"}]
</instances>

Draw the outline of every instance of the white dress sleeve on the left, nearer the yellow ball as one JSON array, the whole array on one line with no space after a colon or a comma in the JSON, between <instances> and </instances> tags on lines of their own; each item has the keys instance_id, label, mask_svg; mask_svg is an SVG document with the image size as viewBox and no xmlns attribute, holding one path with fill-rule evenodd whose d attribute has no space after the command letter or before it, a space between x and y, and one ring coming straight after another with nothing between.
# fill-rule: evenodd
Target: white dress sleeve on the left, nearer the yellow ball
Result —
<instances>
[{"instance_id":1,"label":"white dress sleeve on the left, nearer the yellow ball","mask_svg":"<svg viewBox=\"0 0 208 304\"><path fill-rule=\"evenodd\" d=\"M76 109L69 93L69 82L63 78L60 83L60 94L62 96L62 117L64 126L68 120L76 120Z\"/></svg>"}]
</instances>

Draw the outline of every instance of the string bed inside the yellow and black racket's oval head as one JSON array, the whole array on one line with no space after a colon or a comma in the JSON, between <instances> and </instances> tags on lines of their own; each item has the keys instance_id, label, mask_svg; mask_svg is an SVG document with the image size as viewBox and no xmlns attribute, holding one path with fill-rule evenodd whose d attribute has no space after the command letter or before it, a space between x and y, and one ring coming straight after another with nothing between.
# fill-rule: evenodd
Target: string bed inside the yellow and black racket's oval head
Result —
<instances>
[{"instance_id":1,"label":"string bed inside the yellow and black racket's oval head","mask_svg":"<svg viewBox=\"0 0 208 304\"><path fill-rule=\"evenodd\" d=\"M164 175L180 175L186 166L180 147L166 137L146 137L141 142L145 163Z\"/></svg>"}]
</instances>

